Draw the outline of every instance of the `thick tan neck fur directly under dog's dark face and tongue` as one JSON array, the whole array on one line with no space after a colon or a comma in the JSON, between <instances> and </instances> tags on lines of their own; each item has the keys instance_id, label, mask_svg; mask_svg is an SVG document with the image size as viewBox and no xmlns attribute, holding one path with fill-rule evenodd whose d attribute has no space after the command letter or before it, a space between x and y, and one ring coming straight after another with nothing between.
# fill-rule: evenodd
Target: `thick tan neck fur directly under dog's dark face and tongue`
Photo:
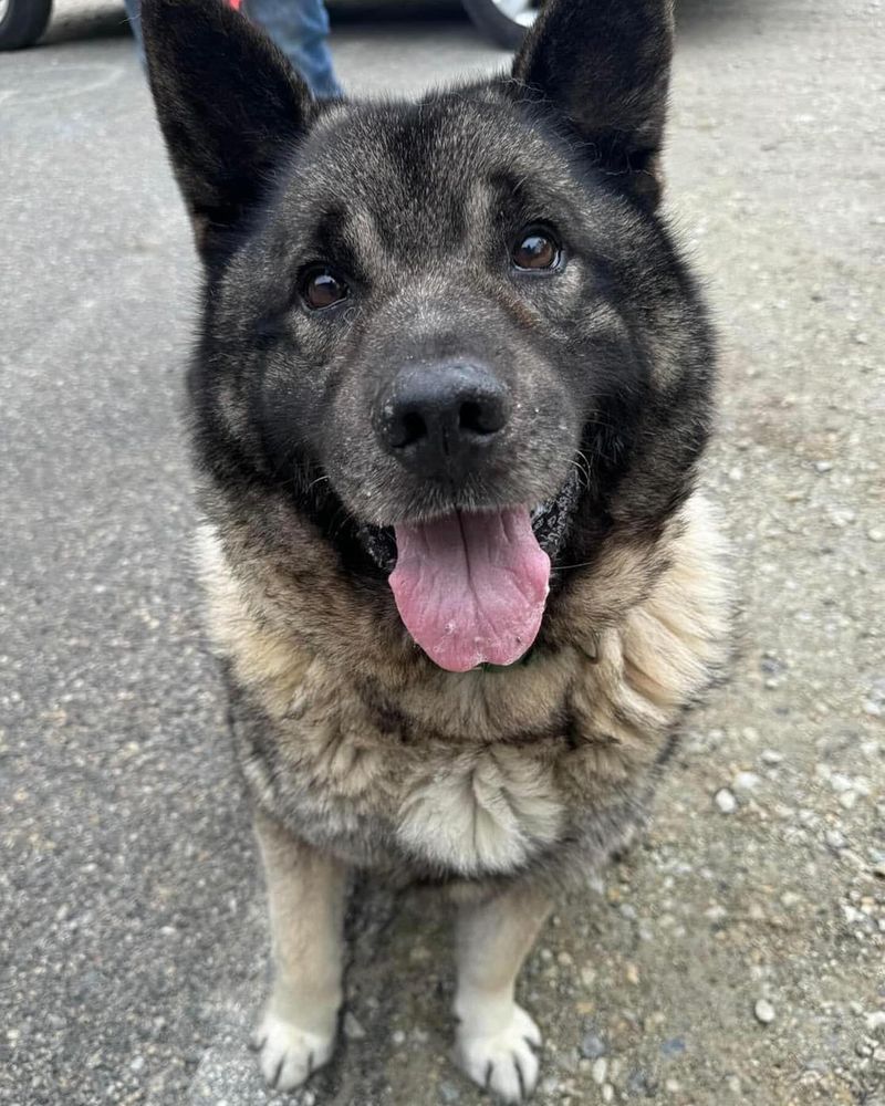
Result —
<instances>
[{"instance_id":1,"label":"thick tan neck fur directly under dog's dark face and tongue","mask_svg":"<svg viewBox=\"0 0 885 1106\"><path fill-rule=\"evenodd\" d=\"M727 620L721 549L697 497L658 533L610 538L591 565L572 570L551 596L543 640L525 664L462 675L441 671L417 648L385 582L354 581L311 523L282 508L270 520L264 505L261 528L244 503L226 511L222 528L204 532L200 556L214 636L242 668L243 682L266 686L272 713L285 712L299 674L314 665L358 689L368 710L388 722L395 717L400 729L511 742L555 731L580 741L590 723L570 707L575 679L585 674L597 682L593 674L613 635L623 655L624 634L637 618L650 620L648 641L636 647L658 674L642 677L649 689L659 680L649 690L655 702L681 705L718 662ZM693 588L707 601L700 607ZM680 650L687 650L681 660ZM279 674L275 691L268 672ZM598 721L590 729L598 730Z\"/></svg>"}]
</instances>

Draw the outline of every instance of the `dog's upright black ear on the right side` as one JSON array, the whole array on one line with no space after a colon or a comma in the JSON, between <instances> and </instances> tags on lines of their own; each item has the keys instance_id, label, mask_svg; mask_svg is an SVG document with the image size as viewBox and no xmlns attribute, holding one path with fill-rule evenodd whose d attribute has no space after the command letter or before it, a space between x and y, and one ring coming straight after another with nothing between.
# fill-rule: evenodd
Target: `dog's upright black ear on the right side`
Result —
<instances>
[{"instance_id":1,"label":"dog's upright black ear on the right side","mask_svg":"<svg viewBox=\"0 0 885 1106\"><path fill-rule=\"evenodd\" d=\"M673 0L548 0L513 76L653 209L671 53Z\"/></svg>"}]
</instances>

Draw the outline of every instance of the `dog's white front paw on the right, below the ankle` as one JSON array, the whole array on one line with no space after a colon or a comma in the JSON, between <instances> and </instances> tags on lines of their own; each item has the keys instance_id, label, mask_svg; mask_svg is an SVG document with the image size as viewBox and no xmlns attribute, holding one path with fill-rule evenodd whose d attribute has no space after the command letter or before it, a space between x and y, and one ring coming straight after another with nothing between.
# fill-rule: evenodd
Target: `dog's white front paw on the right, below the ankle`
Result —
<instances>
[{"instance_id":1,"label":"dog's white front paw on the right, below the ankle","mask_svg":"<svg viewBox=\"0 0 885 1106\"><path fill-rule=\"evenodd\" d=\"M541 1031L521 1006L497 1033L470 1034L458 1027L455 1058L473 1082L508 1103L524 1102L538 1082Z\"/></svg>"}]
</instances>

